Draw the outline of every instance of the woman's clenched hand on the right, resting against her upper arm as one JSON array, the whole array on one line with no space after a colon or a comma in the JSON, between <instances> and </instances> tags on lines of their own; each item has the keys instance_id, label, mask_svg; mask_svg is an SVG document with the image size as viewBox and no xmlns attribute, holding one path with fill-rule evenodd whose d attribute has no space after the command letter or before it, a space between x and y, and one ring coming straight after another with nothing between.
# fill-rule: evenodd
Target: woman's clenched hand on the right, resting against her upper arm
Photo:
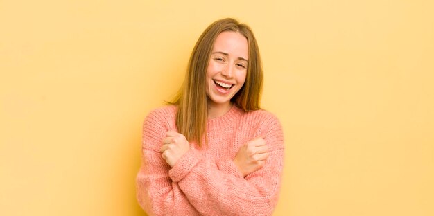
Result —
<instances>
[{"instance_id":1,"label":"woman's clenched hand on the right, resting against her upper arm","mask_svg":"<svg viewBox=\"0 0 434 216\"><path fill-rule=\"evenodd\" d=\"M254 138L243 145L236 153L234 163L238 170L246 175L259 170L266 164L269 149L263 138Z\"/></svg>"}]
</instances>

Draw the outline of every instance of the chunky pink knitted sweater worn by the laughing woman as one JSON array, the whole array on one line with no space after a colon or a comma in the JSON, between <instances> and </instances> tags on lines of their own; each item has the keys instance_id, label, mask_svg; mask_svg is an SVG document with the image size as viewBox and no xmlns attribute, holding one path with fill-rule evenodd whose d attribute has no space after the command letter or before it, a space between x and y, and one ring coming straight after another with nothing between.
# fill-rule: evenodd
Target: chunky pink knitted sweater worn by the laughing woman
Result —
<instances>
[{"instance_id":1,"label":"chunky pink knitted sweater worn by the laughing woman","mask_svg":"<svg viewBox=\"0 0 434 216\"><path fill-rule=\"evenodd\" d=\"M208 144L190 150L171 168L159 152L168 130L177 132L177 108L150 112L144 121L137 199L149 215L272 215L284 164L279 120L268 111L245 112L235 105L207 122ZM232 161L238 149L263 136L270 147L266 165L243 177Z\"/></svg>"}]
</instances>

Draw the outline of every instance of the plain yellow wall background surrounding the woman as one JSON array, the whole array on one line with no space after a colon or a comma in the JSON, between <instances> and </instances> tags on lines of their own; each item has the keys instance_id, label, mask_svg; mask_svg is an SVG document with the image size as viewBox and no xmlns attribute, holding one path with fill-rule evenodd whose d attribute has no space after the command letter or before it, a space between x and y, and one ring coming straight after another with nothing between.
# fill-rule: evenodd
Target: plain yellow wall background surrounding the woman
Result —
<instances>
[{"instance_id":1,"label":"plain yellow wall background surrounding the woman","mask_svg":"<svg viewBox=\"0 0 434 216\"><path fill-rule=\"evenodd\" d=\"M262 1L261 1L262 2ZM433 1L0 1L0 215L144 215L141 123L196 39L257 36L275 215L434 215Z\"/></svg>"}]
</instances>

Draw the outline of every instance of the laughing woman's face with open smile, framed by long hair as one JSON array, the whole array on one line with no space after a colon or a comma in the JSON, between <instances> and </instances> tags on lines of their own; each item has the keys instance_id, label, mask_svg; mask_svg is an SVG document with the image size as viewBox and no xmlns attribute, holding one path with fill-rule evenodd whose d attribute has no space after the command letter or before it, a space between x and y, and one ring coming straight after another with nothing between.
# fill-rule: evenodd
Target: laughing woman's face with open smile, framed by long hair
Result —
<instances>
[{"instance_id":1,"label":"laughing woman's face with open smile, framed by long hair","mask_svg":"<svg viewBox=\"0 0 434 216\"><path fill-rule=\"evenodd\" d=\"M231 98L243 87L247 67L247 39L232 31L220 33L214 42L207 68L209 105L230 106Z\"/></svg>"}]
</instances>

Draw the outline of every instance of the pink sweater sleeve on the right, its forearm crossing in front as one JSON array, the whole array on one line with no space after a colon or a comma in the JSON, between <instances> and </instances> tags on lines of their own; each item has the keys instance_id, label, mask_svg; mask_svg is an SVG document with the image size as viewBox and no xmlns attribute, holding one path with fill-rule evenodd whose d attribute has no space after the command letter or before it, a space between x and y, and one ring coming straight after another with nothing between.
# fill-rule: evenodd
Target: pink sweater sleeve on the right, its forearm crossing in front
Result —
<instances>
[{"instance_id":1,"label":"pink sweater sleeve on the right, its forearm crossing in front","mask_svg":"<svg viewBox=\"0 0 434 216\"><path fill-rule=\"evenodd\" d=\"M196 150L184 154L169 171L173 182L202 215L272 215L281 186L284 138L274 116L261 129L271 147L270 156L263 168L245 178L219 170Z\"/></svg>"}]
</instances>

